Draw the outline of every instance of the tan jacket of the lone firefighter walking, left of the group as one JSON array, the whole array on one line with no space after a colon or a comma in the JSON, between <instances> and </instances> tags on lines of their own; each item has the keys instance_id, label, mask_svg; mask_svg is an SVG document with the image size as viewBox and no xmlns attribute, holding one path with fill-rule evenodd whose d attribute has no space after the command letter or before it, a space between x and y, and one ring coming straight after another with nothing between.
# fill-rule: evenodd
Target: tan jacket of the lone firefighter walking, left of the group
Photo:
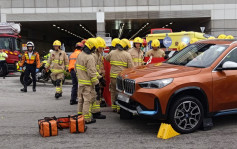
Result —
<instances>
[{"instance_id":1,"label":"tan jacket of the lone firefighter walking, left of the group","mask_svg":"<svg viewBox=\"0 0 237 149\"><path fill-rule=\"evenodd\" d=\"M49 68L52 73L63 73L68 68L69 60L66 52L62 50L54 50L48 59L45 67Z\"/></svg>"}]
</instances>

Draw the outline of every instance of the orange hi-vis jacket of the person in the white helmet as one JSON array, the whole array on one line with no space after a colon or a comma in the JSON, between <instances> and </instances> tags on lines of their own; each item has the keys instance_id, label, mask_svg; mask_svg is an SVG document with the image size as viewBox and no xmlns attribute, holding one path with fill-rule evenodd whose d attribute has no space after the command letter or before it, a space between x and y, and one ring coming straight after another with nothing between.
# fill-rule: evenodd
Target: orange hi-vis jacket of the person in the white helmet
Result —
<instances>
[{"instance_id":1,"label":"orange hi-vis jacket of the person in the white helmet","mask_svg":"<svg viewBox=\"0 0 237 149\"><path fill-rule=\"evenodd\" d=\"M37 52L33 52L31 57L29 57L28 52L25 52L19 66L22 67L24 65L24 63L26 63L26 64L35 64L36 67L39 68L40 67L39 54Z\"/></svg>"}]
</instances>

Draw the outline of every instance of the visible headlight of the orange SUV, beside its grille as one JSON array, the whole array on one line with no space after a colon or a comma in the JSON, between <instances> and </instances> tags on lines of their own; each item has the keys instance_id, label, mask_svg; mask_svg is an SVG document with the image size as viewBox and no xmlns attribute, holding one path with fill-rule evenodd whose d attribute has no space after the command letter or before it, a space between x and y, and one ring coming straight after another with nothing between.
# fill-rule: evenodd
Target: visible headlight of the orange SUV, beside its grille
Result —
<instances>
[{"instance_id":1,"label":"visible headlight of the orange SUV, beside its grille","mask_svg":"<svg viewBox=\"0 0 237 149\"><path fill-rule=\"evenodd\" d=\"M141 88L163 88L173 82L173 78L138 83Z\"/></svg>"}]
</instances>

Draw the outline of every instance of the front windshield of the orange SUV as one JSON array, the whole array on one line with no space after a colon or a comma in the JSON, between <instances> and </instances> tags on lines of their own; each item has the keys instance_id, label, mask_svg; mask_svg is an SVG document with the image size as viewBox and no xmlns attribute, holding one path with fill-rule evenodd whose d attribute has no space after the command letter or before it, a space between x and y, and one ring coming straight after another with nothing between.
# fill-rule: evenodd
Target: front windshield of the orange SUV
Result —
<instances>
[{"instance_id":1,"label":"front windshield of the orange SUV","mask_svg":"<svg viewBox=\"0 0 237 149\"><path fill-rule=\"evenodd\" d=\"M166 63L188 67L209 67L227 47L227 45L191 44L171 57Z\"/></svg>"}]
</instances>

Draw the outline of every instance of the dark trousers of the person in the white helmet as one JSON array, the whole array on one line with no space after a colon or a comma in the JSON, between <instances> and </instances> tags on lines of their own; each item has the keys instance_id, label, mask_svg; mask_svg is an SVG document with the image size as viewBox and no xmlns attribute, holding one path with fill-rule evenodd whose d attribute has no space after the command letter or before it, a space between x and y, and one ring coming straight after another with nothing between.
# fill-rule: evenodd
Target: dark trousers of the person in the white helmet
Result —
<instances>
[{"instance_id":1,"label":"dark trousers of the person in the white helmet","mask_svg":"<svg viewBox=\"0 0 237 149\"><path fill-rule=\"evenodd\" d=\"M33 88L36 87L36 65L33 64L26 64L26 69L25 69L25 76L24 76L24 88L27 88L27 82L30 77L32 77L33 81Z\"/></svg>"}]
</instances>

